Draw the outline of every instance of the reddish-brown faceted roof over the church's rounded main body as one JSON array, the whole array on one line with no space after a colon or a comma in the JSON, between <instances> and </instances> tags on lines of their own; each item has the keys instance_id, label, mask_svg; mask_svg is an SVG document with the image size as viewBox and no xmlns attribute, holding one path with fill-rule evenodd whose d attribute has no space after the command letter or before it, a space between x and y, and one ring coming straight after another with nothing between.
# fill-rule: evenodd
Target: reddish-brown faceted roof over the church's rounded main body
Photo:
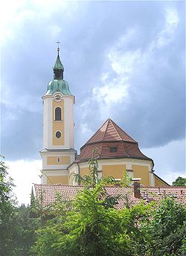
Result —
<instances>
[{"instance_id":1,"label":"reddish-brown faceted roof over the church's rounded main body","mask_svg":"<svg viewBox=\"0 0 186 256\"><path fill-rule=\"evenodd\" d=\"M116 152L111 148L116 147ZM80 148L76 162L87 161L92 157L92 150L97 149L99 159L143 159L153 161L139 150L138 143L123 131L114 121L106 122L94 133L92 138Z\"/></svg>"}]
</instances>

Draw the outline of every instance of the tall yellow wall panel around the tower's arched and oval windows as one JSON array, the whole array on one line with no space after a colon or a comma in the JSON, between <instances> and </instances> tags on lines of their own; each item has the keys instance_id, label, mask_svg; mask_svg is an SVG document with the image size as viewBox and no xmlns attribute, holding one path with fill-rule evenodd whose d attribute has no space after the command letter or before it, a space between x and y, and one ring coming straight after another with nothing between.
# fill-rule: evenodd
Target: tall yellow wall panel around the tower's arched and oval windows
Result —
<instances>
[{"instance_id":1,"label":"tall yellow wall panel around the tower's arched and oval windows","mask_svg":"<svg viewBox=\"0 0 186 256\"><path fill-rule=\"evenodd\" d=\"M59 106L62 109L62 120L61 121L55 121L55 108ZM56 102L53 100L53 145L64 145L65 144L65 130L64 130L64 100L61 100L60 102ZM56 132L61 132L61 137L56 138Z\"/></svg>"}]
</instances>

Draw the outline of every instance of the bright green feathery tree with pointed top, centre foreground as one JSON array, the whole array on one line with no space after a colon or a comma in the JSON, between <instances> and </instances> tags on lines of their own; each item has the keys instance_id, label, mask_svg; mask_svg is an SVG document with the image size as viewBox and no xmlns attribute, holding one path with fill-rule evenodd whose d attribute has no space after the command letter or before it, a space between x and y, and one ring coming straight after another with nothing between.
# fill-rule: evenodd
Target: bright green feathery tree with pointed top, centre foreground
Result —
<instances>
[{"instance_id":1,"label":"bright green feathery tree with pointed top, centre foreground","mask_svg":"<svg viewBox=\"0 0 186 256\"><path fill-rule=\"evenodd\" d=\"M71 208L64 211L67 210L66 202L62 202L58 207L62 209L63 206L63 211L56 211L57 215L48 220L45 228L37 231L33 252L38 256L134 255L133 237L138 237L135 216L141 216L140 209L144 212L147 206L138 206L138 211L118 210L115 208L117 197L108 196L104 190L104 186L114 179L98 178L94 153L89 160L89 170L89 176L75 175L85 188L78 193ZM54 204L54 208L56 206Z\"/></svg>"}]
</instances>

